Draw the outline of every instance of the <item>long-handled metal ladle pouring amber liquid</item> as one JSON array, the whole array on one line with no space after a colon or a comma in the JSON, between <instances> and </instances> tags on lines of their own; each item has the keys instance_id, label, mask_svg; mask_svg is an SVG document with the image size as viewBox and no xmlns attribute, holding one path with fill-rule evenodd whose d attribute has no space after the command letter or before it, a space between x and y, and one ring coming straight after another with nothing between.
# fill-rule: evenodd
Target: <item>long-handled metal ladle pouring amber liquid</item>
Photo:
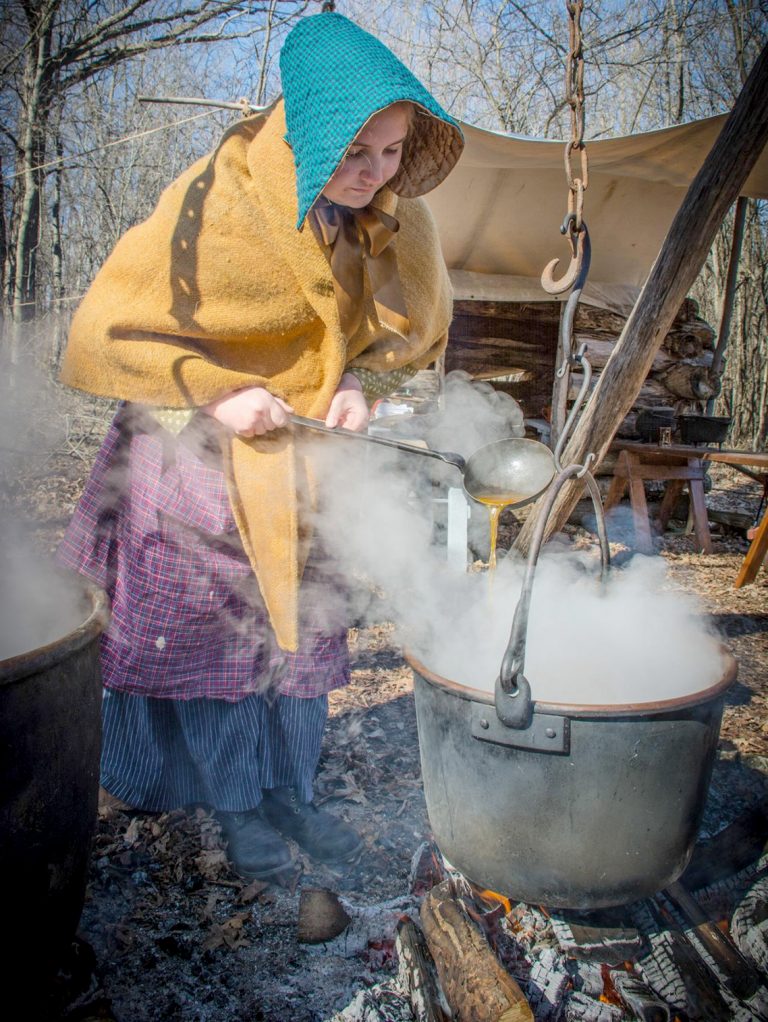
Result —
<instances>
[{"instance_id":1,"label":"long-handled metal ladle pouring amber liquid","mask_svg":"<svg viewBox=\"0 0 768 1022\"><path fill-rule=\"evenodd\" d=\"M494 440L478 448L464 459L452 451L433 451L432 448L416 447L415 444L406 444L388 436L356 433L341 426L326 426L318 419L308 419L302 415L291 415L290 422L316 432L330 433L331 436L379 444L381 447L418 454L423 458L436 458L447 465L453 465L461 472L467 496L483 504L498 503L513 508L530 504L547 489L555 472L554 457L549 448L539 440L524 437ZM510 500L506 500L507 497Z\"/></svg>"}]
</instances>

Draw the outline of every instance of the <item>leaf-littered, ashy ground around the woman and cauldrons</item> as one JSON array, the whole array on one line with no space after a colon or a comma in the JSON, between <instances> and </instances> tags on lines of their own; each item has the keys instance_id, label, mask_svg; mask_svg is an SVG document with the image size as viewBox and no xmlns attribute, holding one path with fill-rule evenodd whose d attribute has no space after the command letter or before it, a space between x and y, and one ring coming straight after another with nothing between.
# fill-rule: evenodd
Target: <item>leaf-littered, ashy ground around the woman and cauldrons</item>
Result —
<instances>
[{"instance_id":1,"label":"leaf-littered, ashy ground around the woman and cauldrons","mask_svg":"<svg viewBox=\"0 0 768 1022\"><path fill-rule=\"evenodd\" d=\"M6 511L33 522L41 549L53 549L72 513L89 452L89 445L69 449L42 464L16 466L5 479ZM758 487L721 472L710 500L754 512ZM704 600L739 662L718 769L743 769L742 778L757 779L757 798L768 768L768 569L735 591L743 538L721 530L715 553L703 556L683 523L676 525L677 533L658 541L659 552L673 580ZM512 531L507 524L507 541ZM578 527L568 531L589 542ZM626 554L626 548L615 552ZM411 856L430 836L410 671L386 622L354 631L351 650L353 684L331 696L317 791L327 808L362 832L359 862L333 872L300 857L293 887L245 885L228 869L216 824L202 810L103 811L82 919L100 993L85 995L66 1015L72 1022L319 1022L392 968L387 940L348 957L336 945L317 948L297 939L303 887L330 888L358 907L402 898ZM750 784L742 787L739 797L749 801Z\"/></svg>"}]
</instances>

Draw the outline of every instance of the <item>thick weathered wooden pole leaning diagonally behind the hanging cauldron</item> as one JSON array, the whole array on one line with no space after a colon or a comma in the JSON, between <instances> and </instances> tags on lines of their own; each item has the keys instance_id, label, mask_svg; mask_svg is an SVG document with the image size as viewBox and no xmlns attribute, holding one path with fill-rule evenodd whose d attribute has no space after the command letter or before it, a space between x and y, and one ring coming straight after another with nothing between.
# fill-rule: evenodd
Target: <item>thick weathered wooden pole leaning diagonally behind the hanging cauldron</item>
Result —
<instances>
[{"instance_id":1,"label":"thick weathered wooden pole leaning diagonally behind the hanging cauldron","mask_svg":"<svg viewBox=\"0 0 768 1022\"><path fill-rule=\"evenodd\" d=\"M712 247L720 225L768 143L768 46L758 57L717 141L691 182L648 279L600 374L566 448L562 464L602 460L616 430L637 400L675 314ZM593 466L594 467L594 466ZM560 491L545 538L560 529L582 491L579 480ZM527 554L536 515L521 529L514 549Z\"/></svg>"}]
</instances>

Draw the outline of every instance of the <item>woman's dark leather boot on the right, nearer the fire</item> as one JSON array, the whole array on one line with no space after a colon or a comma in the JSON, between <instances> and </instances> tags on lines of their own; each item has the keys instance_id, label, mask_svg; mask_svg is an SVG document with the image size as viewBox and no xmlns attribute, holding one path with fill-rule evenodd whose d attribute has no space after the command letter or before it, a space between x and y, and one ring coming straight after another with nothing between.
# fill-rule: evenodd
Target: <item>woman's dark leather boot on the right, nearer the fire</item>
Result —
<instances>
[{"instance_id":1,"label":"woman's dark leather boot on the right, nearer the fire","mask_svg":"<svg viewBox=\"0 0 768 1022\"><path fill-rule=\"evenodd\" d=\"M354 828L314 802L301 802L296 788L265 791L262 808L275 830L292 838L318 863L347 862L363 846Z\"/></svg>"}]
</instances>

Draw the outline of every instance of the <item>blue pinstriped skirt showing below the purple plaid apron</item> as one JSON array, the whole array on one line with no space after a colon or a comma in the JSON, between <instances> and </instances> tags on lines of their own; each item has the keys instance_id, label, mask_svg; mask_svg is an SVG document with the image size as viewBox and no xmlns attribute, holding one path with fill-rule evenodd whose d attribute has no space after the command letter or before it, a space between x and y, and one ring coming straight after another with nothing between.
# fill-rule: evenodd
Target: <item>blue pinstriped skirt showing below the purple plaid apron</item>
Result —
<instances>
[{"instance_id":1,"label":"blue pinstriped skirt showing below the purple plaid apron","mask_svg":"<svg viewBox=\"0 0 768 1022\"><path fill-rule=\"evenodd\" d=\"M104 690L101 784L138 809L255 808L262 789L312 799L328 697L153 699Z\"/></svg>"}]
</instances>

